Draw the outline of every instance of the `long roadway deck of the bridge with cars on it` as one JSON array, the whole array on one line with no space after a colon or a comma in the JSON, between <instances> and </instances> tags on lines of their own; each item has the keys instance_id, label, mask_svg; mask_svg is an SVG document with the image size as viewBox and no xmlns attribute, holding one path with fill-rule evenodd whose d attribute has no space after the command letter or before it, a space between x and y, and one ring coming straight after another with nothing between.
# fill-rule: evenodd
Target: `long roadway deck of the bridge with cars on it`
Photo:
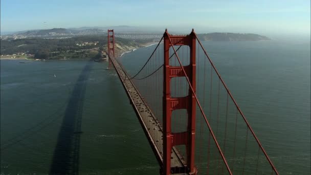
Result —
<instances>
[{"instance_id":1,"label":"long roadway deck of the bridge with cars on it","mask_svg":"<svg viewBox=\"0 0 311 175\"><path fill-rule=\"evenodd\" d=\"M143 127L151 148L156 155L160 165L163 165L163 129L160 122L152 114L152 111L143 100L143 97L137 91L135 85L131 82L122 65L115 58L111 58L112 63L118 73L118 76L124 86L124 89L129 97L130 103L138 116L138 119ZM171 171L173 173L185 173L186 163L184 158L179 154L177 149L172 149L171 154Z\"/></svg>"}]
</instances>

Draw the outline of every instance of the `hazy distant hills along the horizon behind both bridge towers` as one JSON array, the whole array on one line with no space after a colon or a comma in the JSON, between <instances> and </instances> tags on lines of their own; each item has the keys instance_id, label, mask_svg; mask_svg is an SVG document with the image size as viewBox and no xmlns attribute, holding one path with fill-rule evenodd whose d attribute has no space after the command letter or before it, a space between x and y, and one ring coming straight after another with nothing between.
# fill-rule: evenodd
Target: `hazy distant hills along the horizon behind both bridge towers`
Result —
<instances>
[{"instance_id":1,"label":"hazy distant hills along the horizon behind both bridge towers","mask_svg":"<svg viewBox=\"0 0 311 175\"><path fill-rule=\"evenodd\" d=\"M138 27L131 26L111 26L111 27L80 27L80 28L53 28L44 30L29 30L15 32L13 34L3 35L2 39L23 39L23 38L68 38L83 35L106 35L107 29L114 29L119 37L128 38L128 34L157 34L162 35L162 32L150 31ZM269 37L253 34L253 33L205 33L197 34L198 38L203 41L259 41L270 40ZM132 37L132 36L130 36ZM143 36L142 36L143 37ZM142 38L139 37L139 38ZM160 37L161 38L161 37Z\"/></svg>"}]
</instances>

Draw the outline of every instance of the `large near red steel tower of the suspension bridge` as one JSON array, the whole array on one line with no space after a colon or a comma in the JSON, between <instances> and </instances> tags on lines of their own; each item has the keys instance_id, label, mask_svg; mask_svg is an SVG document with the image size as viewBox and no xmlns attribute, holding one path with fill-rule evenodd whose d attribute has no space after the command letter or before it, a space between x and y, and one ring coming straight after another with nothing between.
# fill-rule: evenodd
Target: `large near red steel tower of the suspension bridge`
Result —
<instances>
[{"instance_id":1,"label":"large near red steel tower of the suspension bridge","mask_svg":"<svg viewBox=\"0 0 311 175\"><path fill-rule=\"evenodd\" d=\"M194 137L195 137L195 108L196 101L191 89L185 97L172 97L170 81L174 77L188 76L193 90L195 90L195 45L196 37L194 30L189 35L170 35L167 30L164 33L164 77L163 77L163 171L164 174L174 173L171 169L171 151L176 145L186 146L187 172L196 174L194 166ZM190 64L182 67L173 67L169 65L169 48L172 46L189 46ZM194 92L195 93L195 92ZM181 133L172 133L171 116L174 110L187 110L187 130Z\"/></svg>"}]
</instances>

